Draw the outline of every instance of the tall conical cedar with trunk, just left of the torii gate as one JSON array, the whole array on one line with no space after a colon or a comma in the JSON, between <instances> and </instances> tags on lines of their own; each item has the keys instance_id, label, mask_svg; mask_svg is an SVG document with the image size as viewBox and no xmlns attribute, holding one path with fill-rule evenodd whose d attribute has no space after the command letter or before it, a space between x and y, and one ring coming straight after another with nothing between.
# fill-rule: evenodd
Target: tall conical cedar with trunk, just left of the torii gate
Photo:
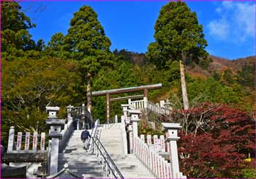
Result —
<instances>
[{"instance_id":1,"label":"tall conical cedar with trunk, just left of the torii gate","mask_svg":"<svg viewBox=\"0 0 256 179\"><path fill-rule=\"evenodd\" d=\"M70 21L70 28L64 38L64 49L71 53L71 58L80 61L80 72L87 80L87 104L91 110L91 77L102 66L111 64L110 39L97 20L97 13L88 6L83 6Z\"/></svg>"}]
</instances>

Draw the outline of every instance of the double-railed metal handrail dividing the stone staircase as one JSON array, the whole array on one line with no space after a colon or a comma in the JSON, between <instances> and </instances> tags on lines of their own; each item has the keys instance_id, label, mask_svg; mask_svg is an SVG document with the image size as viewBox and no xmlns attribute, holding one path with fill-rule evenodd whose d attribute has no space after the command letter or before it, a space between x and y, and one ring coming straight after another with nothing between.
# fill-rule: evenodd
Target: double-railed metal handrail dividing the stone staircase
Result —
<instances>
[{"instance_id":1,"label":"double-railed metal handrail dividing the stone staircase","mask_svg":"<svg viewBox=\"0 0 256 179\"><path fill-rule=\"evenodd\" d=\"M97 137L95 137L95 140L97 140L97 141L94 140L94 137L91 137L91 140L94 142L94 145L97 147L97 149L98 149L99 153L101 154L101 156L103 157L106 165L108 165L108 168L110 169L110 178L111 178L111 173L113 174L114 178L124 178L124 176L118 170L118 167L116 167L115 162L111 159L110 155L108 154L108 152L102 145L102 142L100 142ZM97 144L97 142L100 146ZM103 151L101 150L101 148L103 149ZM108 168L106 168L106 172L107 172Z\"/></svg>"}]
</instances>

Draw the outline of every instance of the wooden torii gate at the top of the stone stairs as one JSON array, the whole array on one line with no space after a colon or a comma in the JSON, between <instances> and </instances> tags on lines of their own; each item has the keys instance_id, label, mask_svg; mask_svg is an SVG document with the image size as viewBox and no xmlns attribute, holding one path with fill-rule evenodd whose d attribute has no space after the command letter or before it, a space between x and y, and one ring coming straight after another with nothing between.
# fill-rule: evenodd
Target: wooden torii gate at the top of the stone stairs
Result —
<instances>
[{"instance_id":1,"label":"wooden torii gate at the top of the stone stairs","mask_svg":"<svg viewBox=\"0 0 256 179\"><path fill-rule=\"evenodd\" d=\"M107 123L110 123L110 101L116 101L118 99L110 100L110 94L124 94L129 92L135 92L135 91L144 91L144 97L148 99L148 90L152 89L159 89L162 88L162 83L157 83L154 85L140 85L137 87L129 87L129 88L117 88L117 89L110 89L110 90L104 90L104 91L94 91L92 92L92 96L104 96L106 95L106 104L107 104ZM127 99L127 97L123 97L120 99Z\"/></svg>"}]
</instances>

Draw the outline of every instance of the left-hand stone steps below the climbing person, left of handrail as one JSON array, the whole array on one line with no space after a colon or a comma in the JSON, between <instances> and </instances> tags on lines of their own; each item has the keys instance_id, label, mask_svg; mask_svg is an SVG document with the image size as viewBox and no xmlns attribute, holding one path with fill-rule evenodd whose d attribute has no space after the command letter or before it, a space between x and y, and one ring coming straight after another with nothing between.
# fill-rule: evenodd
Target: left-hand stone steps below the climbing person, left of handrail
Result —
<instances>
[{"instance_id":1,"label":"left-hand stone steps below the climbing person, left of handrail","mask_svg":"<svg viewBox=\"0 0 256 179\"><path fill-rule=\"evenodd\" d=\"M82 178L106 178L99 159L84 151L83 142L80 140L81 132L82 130L75 130L64 152L59 153L58 170L67 163L69 171Z\"/></svg>"}]
</instances>

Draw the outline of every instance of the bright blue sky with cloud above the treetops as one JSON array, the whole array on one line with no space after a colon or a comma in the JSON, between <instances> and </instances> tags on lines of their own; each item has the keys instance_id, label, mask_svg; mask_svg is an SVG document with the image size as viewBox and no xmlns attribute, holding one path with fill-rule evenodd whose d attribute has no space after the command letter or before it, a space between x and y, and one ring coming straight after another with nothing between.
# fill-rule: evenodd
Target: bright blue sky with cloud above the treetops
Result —
<instances>
[{"instance_id":1,"label":"bright blue sky with cloud above the treetops","mask_svg":"<svg viewBox=\"0 0 256 179\"><path fill-rule=\"evenodd\" d=\"M36 28L32 38L47 43L53 34L67 34L70 19L83 5L97 12L111 50L145 53L154 41L154 23L167 1L22 1L20 5ZM255 55L255 2L187 1L197 13L206 35L208 53L235 59Z\"/></svg>"}]
</instances>

